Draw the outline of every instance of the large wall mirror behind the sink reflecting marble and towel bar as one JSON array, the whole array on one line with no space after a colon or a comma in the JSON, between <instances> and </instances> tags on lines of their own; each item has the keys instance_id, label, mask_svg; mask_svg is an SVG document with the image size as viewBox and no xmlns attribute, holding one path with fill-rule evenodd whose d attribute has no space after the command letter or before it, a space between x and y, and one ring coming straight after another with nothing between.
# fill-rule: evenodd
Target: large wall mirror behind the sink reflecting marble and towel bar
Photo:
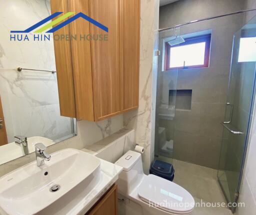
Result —
<instances>
[{"instance_id":1,"label":"large wall mirror behind the sink reflecting marble and towel bar","mask_svg":"<svg viewBox=\"0 0 256 215\"><path fill-rule=\"evenodd\" d=\"M53 40L31 40L33 33L10 33L23 31L48 17L50 1L0 0L0 5L2 164L33 152L35 143L49 146L73 137L76 121L60 116Z\"/></svg>"}]
</instances>

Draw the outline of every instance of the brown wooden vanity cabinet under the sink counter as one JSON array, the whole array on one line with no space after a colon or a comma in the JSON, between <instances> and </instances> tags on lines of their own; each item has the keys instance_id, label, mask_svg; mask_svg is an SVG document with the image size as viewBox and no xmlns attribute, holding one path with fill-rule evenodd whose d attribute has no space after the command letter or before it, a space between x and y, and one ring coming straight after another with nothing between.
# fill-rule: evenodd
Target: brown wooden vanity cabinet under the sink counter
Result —
<instances>
[{"instance_id":1,"label":"brown wooden vanity cabinet under the sink counter","mask_svg":"<svg viewBox=\"0 0 256 215\"><path fill-rule=\"evenodd\" d=\"M117 215L117 185L113 185L86 215Z\"/></svg>"}]
</instances>

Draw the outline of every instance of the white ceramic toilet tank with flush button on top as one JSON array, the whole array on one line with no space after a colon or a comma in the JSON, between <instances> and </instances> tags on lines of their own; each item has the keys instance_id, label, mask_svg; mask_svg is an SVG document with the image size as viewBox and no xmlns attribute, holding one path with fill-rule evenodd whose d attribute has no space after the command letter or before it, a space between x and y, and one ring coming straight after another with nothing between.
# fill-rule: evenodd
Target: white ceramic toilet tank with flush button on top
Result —
<instances>
[{"instance_id":1,"label":"white ceramic toilet tank with flush button on top","mask_svg":"<svg viewBox=\"0 0 256 215\"><path fill-rule=\"evenodd\" d=\"M144 176L141 154L135 151L128 151L115 164L123 167L116 181L118 192L123 195L129 195L140 184Z\"/></svg>"}]
</instances>

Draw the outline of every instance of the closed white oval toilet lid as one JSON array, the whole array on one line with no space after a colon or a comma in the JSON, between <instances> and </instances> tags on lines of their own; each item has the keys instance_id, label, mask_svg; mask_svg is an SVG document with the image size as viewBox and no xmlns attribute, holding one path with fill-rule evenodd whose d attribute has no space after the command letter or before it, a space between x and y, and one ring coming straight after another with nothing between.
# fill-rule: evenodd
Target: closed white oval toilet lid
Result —
<instances>
[{"instance_id":1,"label":"closed white oval toilet lid","mask_svg":"<svg viewBox=\"0 0 256 215\"><path fill-rule=\"evenodd\" d=\"M138 186L138 196L150 206L158 207L168 212L187 213L194 208L192 195L183 187L149 174Z\"/></svg>"}]
</instances>

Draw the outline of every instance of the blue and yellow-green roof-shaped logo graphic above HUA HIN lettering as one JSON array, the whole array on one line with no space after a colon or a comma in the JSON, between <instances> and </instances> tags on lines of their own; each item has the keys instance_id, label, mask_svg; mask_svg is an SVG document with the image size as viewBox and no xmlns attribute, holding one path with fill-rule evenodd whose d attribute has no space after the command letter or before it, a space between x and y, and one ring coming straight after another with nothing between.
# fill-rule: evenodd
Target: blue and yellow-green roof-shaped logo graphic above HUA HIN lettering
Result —
<instances>
[{"instance_id":1,"label":"blue and yellow-green roof-shaped logo graphic above HUA HIN lettering","mask_svg":"<svg viewBox=\"0 0 256 215\"><path fill-rule=\"evenodd\" d=\"M53 18L59 16L60 14L63 14L63 12L56 12L56 13L48 16L47 18L41 20L40 22L34 24L33 26L29 27L28 29L26 29L24 31L10 31L10 33L29 33L31 31L37 29L38 27L42 26L43 24L47 23L48 21L52 20ZM54 33L55 31L63 28L64 26L66 26L69 23L77 20L78 18L82 18L82 19L90 22L91 24L97 26L98 28L100 28L103 31L108 33L108 28L106 26L104 26L101 23L91 19L90 17L86 16L85 14L83 14L81 12L76 14L76 15L74 15L74 14L75 14L74 12L68 12L68 13L62 15L61 17L58 17L57 19L53 20L52 22L50 22L48 24L45 24L44 26L42 26L41 28L37 29L33 33L42 33L44 31L46 31L46 33ZM74 15L74 16L72 16L72 15ZM70 16L72 16L72 17L70 17ZM62 22L64 19L66 19L68 17L70 17L68 20ZM58 23L60 23L60 24L57 25ZM57 25L57 26L55 26L55 25ZM55 27L53 27L53 26L55 26Z\"/></svg>"}]
</instances>

